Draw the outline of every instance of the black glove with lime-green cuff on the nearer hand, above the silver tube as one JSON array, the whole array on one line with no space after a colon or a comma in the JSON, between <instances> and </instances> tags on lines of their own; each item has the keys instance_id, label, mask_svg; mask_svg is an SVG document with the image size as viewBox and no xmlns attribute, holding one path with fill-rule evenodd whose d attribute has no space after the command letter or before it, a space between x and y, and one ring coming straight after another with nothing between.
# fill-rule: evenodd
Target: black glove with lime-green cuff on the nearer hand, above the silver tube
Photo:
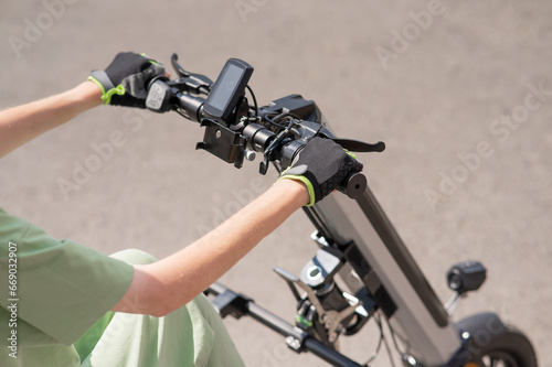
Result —
<instances>
[{"instance_id":1,"label":"black glove with lime-green cuff on the nearer hand, above the silver tube","mask_svg":"<svg viewBox=\"0 0 552 367\"><path fill-rule=\"evenodd\" d=\"M351 172L360 172L362 163L330 139L312 138L291 166L282 172L282 179L305 183L311 206L336 190Z\"/></svg>"}]
</instances>

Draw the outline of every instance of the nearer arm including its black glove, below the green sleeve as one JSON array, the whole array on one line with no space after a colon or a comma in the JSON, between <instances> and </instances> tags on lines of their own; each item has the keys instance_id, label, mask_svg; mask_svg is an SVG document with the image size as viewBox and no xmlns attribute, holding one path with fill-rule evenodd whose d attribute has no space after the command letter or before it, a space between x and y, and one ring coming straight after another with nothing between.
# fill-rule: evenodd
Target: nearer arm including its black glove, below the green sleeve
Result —
<instances>
[{"instance_id":1,"label":"nearer arm including its black glove, below the green sleeve","mask_svg":"<svg viewBox=\"0 0 552 367\"><path fill-rule=\"evenodd\" d=\"M163 260L135 266L130 287L113 310L163 316L183 306L294 212L361 170L362 163L332 140L310 139L280 180L213 231Z\"/></svg>"}]
</instances>

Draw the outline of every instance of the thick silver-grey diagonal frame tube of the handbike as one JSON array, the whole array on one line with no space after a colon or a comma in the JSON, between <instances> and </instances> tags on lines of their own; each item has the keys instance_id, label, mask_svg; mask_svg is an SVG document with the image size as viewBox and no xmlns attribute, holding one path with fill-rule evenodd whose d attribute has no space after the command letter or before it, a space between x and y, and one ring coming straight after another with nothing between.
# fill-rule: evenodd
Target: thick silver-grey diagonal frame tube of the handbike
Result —
<instances>
[{"instance_id":1,"label":"thick silver-grey diagonal frame tube of the handbike","mask_svg":"<svg viewBox=\"0 0 552 367\"><path fill-rule=\"evenodd\" d=\"M408 353L424 365L445 365L463 343L456 326L370 188L357 201L342 196L327 197L309 217L325 237L354 244L362 258L348 261L362 267L357 272L372 294L383 294L376 301Z\"/></svg>"}]
</instances>

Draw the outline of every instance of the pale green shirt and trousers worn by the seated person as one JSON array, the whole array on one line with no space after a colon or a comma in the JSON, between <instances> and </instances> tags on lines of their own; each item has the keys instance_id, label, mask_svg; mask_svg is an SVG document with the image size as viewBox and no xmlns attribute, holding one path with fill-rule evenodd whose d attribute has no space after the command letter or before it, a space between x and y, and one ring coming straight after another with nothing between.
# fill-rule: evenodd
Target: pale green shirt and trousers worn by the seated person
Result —
<instances>
[{"instance_id":1,"label":"pale green shirt and trousers worn by the seated person","mask_svg":"<svg viewBox=\"0 0 552 367\"><path fill-rule=\"evenodd\" d=\"M202 295L164 317L109 312L130 263L153 261L123 252L57 241L0 209L0 366L243 366Z\"/></svg>"}]
</instances>

